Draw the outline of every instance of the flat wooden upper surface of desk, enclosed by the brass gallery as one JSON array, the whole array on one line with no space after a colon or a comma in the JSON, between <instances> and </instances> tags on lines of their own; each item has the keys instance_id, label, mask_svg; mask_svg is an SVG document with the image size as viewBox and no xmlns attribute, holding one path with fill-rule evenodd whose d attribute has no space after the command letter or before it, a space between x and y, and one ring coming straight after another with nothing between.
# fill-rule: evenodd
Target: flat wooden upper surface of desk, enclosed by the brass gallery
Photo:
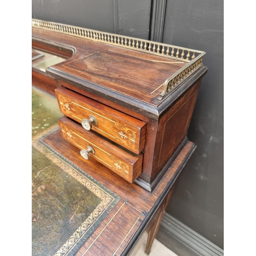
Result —
<instances>
[{"instance_id":1,"label":"flat wooden upper surface of desk, enclosed by the brass gallery","mask_svg":"<svg viewBox=\"0 0 256 256\"><path fill-rule=\"evenodd\" d=\"M37 28L32 28L32 36L33 47L37 49L42 38L57 42L62 48L66 45L76 49L68 61L48 69L55 78L61 74L67 82L75 79L80 80L84 86L89 83L98 84L109 91L153 105L161 103L157 100L162 90L161 84L185 65L182 61ZM50 47L46 42L42 47L45 51L49 47L49 52L56 50L56 54L60 54L56 47Z\"/></svg>"}]
</instances>

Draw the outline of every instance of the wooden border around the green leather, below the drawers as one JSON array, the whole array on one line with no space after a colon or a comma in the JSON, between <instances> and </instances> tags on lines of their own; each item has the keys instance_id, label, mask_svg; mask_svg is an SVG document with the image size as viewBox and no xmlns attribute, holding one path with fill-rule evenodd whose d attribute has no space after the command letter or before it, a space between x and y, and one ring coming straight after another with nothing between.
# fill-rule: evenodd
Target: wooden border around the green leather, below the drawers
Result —
<instances>
[{"instance_id":1,"label":"wooden border around the green leather, below the drawers","mask_svg":"<svg viewBox=\"0 0 256 256\"><path fill-rule=\"evenodd\" d=\"M59 130L43 140L79 168L84 168L77 148L63 139ZM131 243L132 240L139 239L143 232L146 231L147 224L150 223L150 220L168 195L177 178L177 173L184 167L184 160L190 156L193 146L194 143L189 141L185 144L152 193L148 193L134 183L131 184L123 180L99 162L89 162L86 173L112 190L121 200L76 255L102 255L102 251L106 251L107 255L121 255L127 248L130 248L133 244ZM100 172L97 170L100 170ZM122 219L125 220L124 225L120 224ZM117 223L119 224L117 225ZM140 232L140 227L144 225L144 231ZM110 240L108 235L105 235L109 233L107 231L111 232L111 238L116 237L115 242ZM103 255L105 254L103 253Z\"/></svg>"}]
</instances>

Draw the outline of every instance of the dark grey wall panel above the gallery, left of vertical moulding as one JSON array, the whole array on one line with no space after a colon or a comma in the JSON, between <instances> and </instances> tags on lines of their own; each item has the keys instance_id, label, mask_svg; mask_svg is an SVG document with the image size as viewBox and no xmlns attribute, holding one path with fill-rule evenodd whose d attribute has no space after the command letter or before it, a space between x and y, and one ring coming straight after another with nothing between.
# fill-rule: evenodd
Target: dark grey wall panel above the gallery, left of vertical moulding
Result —
<instances>
[{"instance_id":1,"label":"dark grey wall panel above the gallery, left of vertical moulding","mask_svg":"<svg viewBox=\"0 0 256 256\"><path fill-rule=\"evenodd\" d=\"M32 0L32 18L148 39L151 0Z\"/></svg>"}]
</instances>

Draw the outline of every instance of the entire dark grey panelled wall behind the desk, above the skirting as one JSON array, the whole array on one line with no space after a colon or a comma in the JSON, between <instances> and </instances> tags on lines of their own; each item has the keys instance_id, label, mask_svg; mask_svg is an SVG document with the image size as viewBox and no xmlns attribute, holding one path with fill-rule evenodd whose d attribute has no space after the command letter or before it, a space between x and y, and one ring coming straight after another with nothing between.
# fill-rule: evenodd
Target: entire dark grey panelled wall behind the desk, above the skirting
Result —
<instances>
[{"instance_id":1,"label":"entire dark grey panelled wall behind the desk, above the skirting","mask_svg":"<svg viewBox=\"0 0 256 256\"><path fill-rule=\"evenodd\" d=\"M188 139L197 149L167 208L223 249L223 1L32 0L32 18L205 51Z\"/></svg>"}]
</instances>

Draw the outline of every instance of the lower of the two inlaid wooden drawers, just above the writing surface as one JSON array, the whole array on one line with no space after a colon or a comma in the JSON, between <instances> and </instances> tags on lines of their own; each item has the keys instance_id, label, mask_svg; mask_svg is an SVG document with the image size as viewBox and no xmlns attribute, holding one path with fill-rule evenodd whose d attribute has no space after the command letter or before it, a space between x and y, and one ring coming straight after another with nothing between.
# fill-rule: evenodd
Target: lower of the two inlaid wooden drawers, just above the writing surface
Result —
<instances>
[{"instance_id":1,"label":"lower of the two inlaid wooden drawers, just above the writing surface","mask_svg":"<svg viewBox=\"0 0 256 256\"><path fill-rule=\"evenodd\" d=\"M130 183L141 174L142 153L136 155L125 152L95 132L84 130L80 124L65 116L58 123L63 138L81 150L84 161L95 159Z\"/></svg>"}]
</instances>

